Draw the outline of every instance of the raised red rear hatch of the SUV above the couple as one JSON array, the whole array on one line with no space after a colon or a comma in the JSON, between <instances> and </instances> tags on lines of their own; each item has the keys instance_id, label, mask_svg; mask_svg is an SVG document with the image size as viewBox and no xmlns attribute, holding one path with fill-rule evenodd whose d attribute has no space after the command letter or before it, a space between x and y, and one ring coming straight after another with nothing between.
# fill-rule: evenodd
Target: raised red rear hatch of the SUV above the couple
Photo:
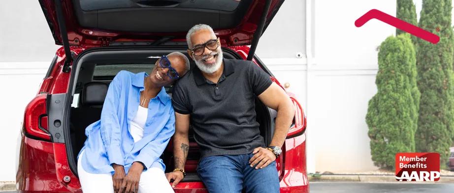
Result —
<instances>
[{"instance_id":1,"label":"raised red rear hatch of the SUV above the couple","mask_svg":"<svg viewBox=\"0 0 454 193\"><path fill-rule=\"evenodd\" d=\"M185 40L189 28L210 25L223 46L250 45L265 0L60 0L70 45L108 46L110 42ZM271 0L263 29L284 0ZM54 0L39 0L54 36L62 45ZM260 34L261 35L261 34Z\"/></svg>"}]
</instances>

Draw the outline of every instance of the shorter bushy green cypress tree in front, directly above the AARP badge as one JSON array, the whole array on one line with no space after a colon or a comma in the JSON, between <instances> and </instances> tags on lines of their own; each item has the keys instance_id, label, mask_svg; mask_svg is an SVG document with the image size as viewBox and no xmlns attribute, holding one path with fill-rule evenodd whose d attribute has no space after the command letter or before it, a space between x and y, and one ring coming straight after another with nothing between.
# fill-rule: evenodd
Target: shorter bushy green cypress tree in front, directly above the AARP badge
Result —
<instances>
[{"instance_id":1,"label":"shorter bushy green cypress tree in front, directly above the AARP badge","mask_svg":"<svg viewBox=\"0 0 454 193\"><path fill-rule=\"evenodd\" d=\"M416 54L409 34L390 36L378 53L377 94L369 101L366 123L372 161L394 168L398 152L415 151L417 107ZM413 96L415 95L415 96Z\"/></svg>"}]
</instances>

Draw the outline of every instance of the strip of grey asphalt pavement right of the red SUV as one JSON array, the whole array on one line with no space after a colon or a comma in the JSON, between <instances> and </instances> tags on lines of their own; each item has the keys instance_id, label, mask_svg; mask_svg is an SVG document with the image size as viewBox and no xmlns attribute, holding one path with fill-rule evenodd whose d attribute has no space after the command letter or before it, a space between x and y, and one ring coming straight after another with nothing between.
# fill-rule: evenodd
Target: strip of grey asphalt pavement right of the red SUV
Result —
<instances>
[{"instance_id":1,"label":"strip of grey asphalt pavement right of the red SUV","mask_svg":"<svg viewBox=\"0 0 454 193\"><path fill-rule=\"evenodd\" d=\"M311 182L310 193L454 193L454 184Z\"/></svg>"}]
</instances>

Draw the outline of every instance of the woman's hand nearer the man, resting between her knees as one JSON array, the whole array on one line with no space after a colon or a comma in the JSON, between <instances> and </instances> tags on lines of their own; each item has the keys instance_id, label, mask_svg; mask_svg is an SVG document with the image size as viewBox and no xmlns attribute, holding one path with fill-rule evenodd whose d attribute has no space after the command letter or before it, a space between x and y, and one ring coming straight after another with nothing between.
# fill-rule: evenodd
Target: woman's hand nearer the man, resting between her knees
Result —
<instances>
[{"instance_id":1,"label":"woman's hand nearer the man, resting between her knees","mask_svg":"<svg viewBox=\"0 0 454 193\"><path fill-rule=\"evenodd\" d=\"M132 163L128 175L123 179L119 193L137 193L139 190L140 175L143 171L143 165L139 162Z\"/></svg>"}]
</instances>

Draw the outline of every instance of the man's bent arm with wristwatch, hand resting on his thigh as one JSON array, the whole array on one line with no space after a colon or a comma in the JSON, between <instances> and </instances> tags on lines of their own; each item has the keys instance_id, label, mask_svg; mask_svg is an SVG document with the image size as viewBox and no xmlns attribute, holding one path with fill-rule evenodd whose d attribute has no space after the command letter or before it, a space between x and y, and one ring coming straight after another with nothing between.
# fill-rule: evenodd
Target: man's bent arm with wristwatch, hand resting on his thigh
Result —
<instances>
[{"instance_id":1,"label":"man's bent arm with wristwatch, hand resting on his thigh","mask_svg":"<svg viewBox=\"0 0 454 193\"><path fill-rule=\"evenodd\" d=\"M292 100L276 83L272 83L266 88L266 90L259 95L259 99L267 107L277 111L274 136L270 146L282 147L285 138L289 133L295 112ZM255 166L256 169L266 167L276 160L276 156L273 152L262 147L254 149L253 154L254 156L249 160L249 163L251 164L251 167Z\"/></svg>"}]
</instances>

